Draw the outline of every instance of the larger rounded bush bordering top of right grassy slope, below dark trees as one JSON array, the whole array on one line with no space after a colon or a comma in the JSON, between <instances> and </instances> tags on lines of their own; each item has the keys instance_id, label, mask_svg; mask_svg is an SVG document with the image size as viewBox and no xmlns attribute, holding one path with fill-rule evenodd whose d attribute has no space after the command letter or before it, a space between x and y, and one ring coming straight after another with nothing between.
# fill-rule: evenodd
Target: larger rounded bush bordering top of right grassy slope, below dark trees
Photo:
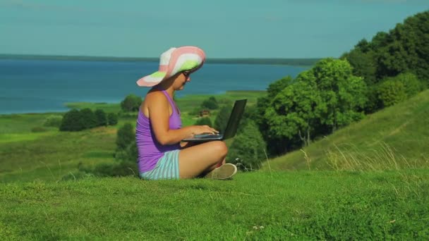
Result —
<instances>
[{"instance_id":1,"label":"larger rounded bush bordering top of right grassy slope, below dark trees","mask_svg":"<svg viewBox=\"0 0 429 241\"><path fill-rule=\"evenodd\" d=\"M383 107L393 106L406 99L405 87L399 81L386 80L382 82L377 93Z\"/></svg>"}]
</instances>

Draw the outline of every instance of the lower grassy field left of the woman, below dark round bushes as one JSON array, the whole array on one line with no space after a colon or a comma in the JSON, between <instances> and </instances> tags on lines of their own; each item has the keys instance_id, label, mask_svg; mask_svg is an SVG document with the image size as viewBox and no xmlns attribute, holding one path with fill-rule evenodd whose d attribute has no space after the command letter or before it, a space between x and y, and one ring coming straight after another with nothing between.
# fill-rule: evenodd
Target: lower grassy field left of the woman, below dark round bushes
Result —
<instances>
[{"instance_id":1,"label":"lower grassy field left of the woman, below dark round bushes","mask_svg":"<svg viewBox=\"0 0 429 241\"><path fill-rule=\"evenodd\" d=\"M112 162L116 128L16 134L15 140L38 136L34 140L0 142L0 182L59 180L71 171L77 171L78 163L91 166Z\"/></svg>"}]
</instances>

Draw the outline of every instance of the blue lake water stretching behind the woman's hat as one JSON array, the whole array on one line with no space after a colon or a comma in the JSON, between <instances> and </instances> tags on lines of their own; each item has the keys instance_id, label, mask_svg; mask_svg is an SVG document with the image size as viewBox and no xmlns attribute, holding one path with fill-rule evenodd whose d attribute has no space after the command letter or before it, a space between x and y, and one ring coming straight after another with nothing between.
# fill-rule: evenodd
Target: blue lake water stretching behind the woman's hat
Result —
<instances>
[{"instance_id":1,"label":"blue lake water stretching behind the woman's hat","mask_svg":"<svg viewBox=\"0 0 429 241\"><path fill-rule=\"evenodd\" d=\"M135 81L156 71L158 63L131 61L0 60L0 113L67 111L66 102L119 103L127 94L145 96ZM177 92L218 94L226 90L265 90L303 67L206 63Z\"/></svg>"}]
</instances>

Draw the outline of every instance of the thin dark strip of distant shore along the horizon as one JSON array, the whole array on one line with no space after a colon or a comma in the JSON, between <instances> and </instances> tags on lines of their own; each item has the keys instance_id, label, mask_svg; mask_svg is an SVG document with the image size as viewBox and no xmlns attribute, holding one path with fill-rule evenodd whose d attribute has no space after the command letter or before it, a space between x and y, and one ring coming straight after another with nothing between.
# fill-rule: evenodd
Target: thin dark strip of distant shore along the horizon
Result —
<instances>
[{"instance_id":1,"label":"thin dark strip of distant shore along the horizon","mask_svg":"<svg viewBox=\"0 0 429 241\"><path fill-rule=\"evenodd\" d=\"M109 56L59 56L0 54L0 59L62 60L62 61L143 61L158 62L159 58L109 57ZM313 66L321 58L207 58L206 63L270 64L284 66Z\"/></svg>"}]
</instances>

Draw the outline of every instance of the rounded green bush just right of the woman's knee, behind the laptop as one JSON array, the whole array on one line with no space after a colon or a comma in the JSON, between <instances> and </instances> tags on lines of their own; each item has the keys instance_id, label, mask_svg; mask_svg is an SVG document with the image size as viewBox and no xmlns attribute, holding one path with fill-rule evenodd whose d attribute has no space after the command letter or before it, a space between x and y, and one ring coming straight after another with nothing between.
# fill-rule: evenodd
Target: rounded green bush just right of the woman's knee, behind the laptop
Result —
<instances>
[{"instance_id":1,"label":"rounded green bush just right of the woman's knee, behind the laptop","mask_svg":"<svg viewBox=\"0 0 429 241\"><path fill-rule=\"evenodd\" d=\"M257 170L265 161L265 142L253 121L247 123L245 132L234 137L226 159L241 170Z\"/></svg>"}]
</instances>

